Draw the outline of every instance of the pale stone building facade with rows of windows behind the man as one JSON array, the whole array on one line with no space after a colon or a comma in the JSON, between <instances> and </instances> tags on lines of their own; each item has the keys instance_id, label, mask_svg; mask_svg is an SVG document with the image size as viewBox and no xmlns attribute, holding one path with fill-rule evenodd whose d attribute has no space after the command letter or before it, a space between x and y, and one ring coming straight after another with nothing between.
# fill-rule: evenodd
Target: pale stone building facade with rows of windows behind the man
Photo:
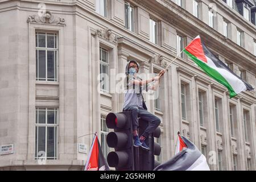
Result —
<instances>
[{"instance_id":1,"label":"pale stone building facade with rows of windows behind the man","mask_svg":"<svg viewBox=\"0 0 256 182\"><path fill-rule=\"evenodd\" d=\"M256 85L251 0L3 0L0 7L0 145L13 144L0 155L3 170L81 170L95 132L106 155L104 121L122 110L117 75L127 59L141 73L158 73L197 35ZM230 99L181 53L158 93L144 94L162 121L157 160L174 156L180 131L210 169L256 169L255 91Z\"/></svg>"}]
</instances>

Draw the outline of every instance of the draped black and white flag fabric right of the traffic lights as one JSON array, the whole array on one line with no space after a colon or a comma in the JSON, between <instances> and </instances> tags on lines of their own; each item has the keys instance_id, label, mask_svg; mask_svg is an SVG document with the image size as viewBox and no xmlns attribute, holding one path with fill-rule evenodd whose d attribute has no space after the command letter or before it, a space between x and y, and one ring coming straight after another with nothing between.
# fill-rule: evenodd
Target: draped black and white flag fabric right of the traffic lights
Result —
<instances>
[{"instance_id":1,"label":"draped black and white flag fabric right of the traffic lights","mask_svg":"<svg viewBox=\"0 0 256 182\"><path fill-rule=\"evenodd\" d=\"M156 167L154 171L210 171L207 160L195 144L185 137L180 137L187 147L178 152L168 162Z\"/></svg>"}]
</instances>

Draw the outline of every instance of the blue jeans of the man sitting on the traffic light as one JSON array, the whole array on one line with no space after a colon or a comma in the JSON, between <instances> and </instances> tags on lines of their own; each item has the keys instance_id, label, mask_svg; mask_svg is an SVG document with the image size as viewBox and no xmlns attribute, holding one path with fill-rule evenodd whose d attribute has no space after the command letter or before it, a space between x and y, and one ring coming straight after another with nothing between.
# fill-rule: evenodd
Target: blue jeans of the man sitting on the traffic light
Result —
<instances>
[{"instance_id":1,"label":"blue jeans of the man sitting on the traffic light","mask_svg":"<svg viewBox=\"0 0 256 182\"><path fill-rule=\"evenodd\" d=\"M138 117L141 117L144 121L148 122L148 126L144 133L143 137L147 138L148 135L154 133L155 129L160 125L160 119L154 114L151 114L146 109L137 106L127 106L123 111L131 111L131 119L133 121L133 130L138 129Z\"/></svg>"}]
</instances>

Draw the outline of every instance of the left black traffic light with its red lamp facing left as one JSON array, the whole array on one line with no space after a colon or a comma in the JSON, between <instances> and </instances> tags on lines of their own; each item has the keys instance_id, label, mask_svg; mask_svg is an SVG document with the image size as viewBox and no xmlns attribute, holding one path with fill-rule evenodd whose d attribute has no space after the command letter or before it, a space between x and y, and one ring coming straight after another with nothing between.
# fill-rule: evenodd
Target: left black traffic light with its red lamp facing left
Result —
<instances>
[{"instance_id":1,"label":"left black traffic light with its red lamp facing left","mask_svg":"<svg viewBox=\"0 0 256 182\"><path fill-rule=\"evenodd\" d=\"M115 167L117 171L134 170L134 151L131 112L109 113L106 117L106 126L114 129L106 137L109 147L115 149L109 152L107 161L110 167Z\"/></svg>"}]
</instances>

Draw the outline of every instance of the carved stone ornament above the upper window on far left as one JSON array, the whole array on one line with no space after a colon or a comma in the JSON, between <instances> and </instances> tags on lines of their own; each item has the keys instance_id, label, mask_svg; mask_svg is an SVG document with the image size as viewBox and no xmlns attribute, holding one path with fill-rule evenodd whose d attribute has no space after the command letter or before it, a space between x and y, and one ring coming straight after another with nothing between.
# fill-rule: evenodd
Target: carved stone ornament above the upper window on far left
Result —
<instances>
[{"instance_id":1,"label":"carved stone ornament above the upper window on far left","mask_svg":"<svg viewBox=\"0 0 256 182\"><path fill-rule=\"evenodd\" d=\"M36 15L29 15L27 18L28 22L35 22L35 23L49 23L49 24L65 24L64 18L55 18L55 16L51 13L51 11L46 11L42 13L42 16Z\"/></svg>"}]
</instances>

